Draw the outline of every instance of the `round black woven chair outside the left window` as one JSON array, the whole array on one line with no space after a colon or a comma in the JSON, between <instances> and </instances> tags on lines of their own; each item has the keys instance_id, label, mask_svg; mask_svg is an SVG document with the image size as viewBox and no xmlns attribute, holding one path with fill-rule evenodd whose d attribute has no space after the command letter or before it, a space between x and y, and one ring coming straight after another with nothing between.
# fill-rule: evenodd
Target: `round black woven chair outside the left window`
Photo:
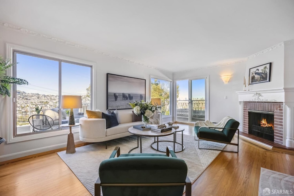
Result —
<instances>
[{"instance_id":1,"label":"round black woven chair outside the left window","mask_svg":"<svg viewBox=\"0 0 294 196\"><path fill-rule=\"evenodd\" d=\"M39 119L34 119L35 117ZM52 126L54 124L54 120L50 116L44 114L34 114L29 117L29 123L33 127L33 132L45 131L48 129L53 129Z\"/></svg>"}]
</instances>

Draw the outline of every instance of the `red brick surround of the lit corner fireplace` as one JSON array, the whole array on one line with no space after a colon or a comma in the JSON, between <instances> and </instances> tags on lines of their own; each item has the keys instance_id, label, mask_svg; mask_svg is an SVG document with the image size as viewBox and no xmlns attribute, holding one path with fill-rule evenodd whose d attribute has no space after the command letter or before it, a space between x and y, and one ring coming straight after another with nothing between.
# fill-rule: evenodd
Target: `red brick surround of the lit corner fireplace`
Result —
<instances>
[{"instance_id":1,"label":"red brick surround of the lit corner fireplace","mask_svg":"<svg viewBox=\"0 0 294 196\"><path fill-rule=\"evenodd\" d=\"M252 133L253 127L252 125L251 127L249 126L250 117L248 115L248 112L261 113L261 114L273 114L273 127L264 128L264 130L273 129L273 142L283 145L283 112L284 112L283 108L284 108L283 102L243 102L243 132L253 134ZM258 130L263 130L263 129L258 129ZM263 134L263 133L260 133L260 134ZM260 134L254 134L254 135L261 137ZM270 139L269 136L263 137L263 138Z\"/></svg>"}]
</instances>

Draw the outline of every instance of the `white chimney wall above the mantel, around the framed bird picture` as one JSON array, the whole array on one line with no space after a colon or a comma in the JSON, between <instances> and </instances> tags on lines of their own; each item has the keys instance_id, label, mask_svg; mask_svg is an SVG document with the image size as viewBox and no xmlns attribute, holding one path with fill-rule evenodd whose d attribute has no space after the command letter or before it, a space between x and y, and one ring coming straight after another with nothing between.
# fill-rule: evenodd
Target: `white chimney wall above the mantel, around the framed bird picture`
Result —
<instances>
[{"instance_id":1,"label":"white chimney wall above the mantel, around the framed bird picture","mask_svg":"<svg viewBox=\"0 0 294 196\"><path fill-rule=\"evenodd\" d=\"M245 77L248 80L249 77L249 69L263 65L266 63L272 63L271 66L271 74L270 74L270 82L264 82L259 84L252 84L249 86L250 90L260 90L260 89L277 89L284 87L284 47L280 47L274 49L270 52L266 52L264 54L260 54L257 57L252 59L248 59L246 62L246 71Z\"/></svg>"}]
</instances>

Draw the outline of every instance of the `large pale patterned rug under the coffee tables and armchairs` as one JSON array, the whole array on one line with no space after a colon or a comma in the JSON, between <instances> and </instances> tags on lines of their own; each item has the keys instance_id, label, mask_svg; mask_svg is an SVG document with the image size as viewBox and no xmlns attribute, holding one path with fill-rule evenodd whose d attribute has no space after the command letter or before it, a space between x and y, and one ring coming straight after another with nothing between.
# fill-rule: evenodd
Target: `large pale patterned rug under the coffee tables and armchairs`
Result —
<instances>
[{"instance_id":1,"label":"large pale patterned rug under the coffee tables and armchairs","mask_svg":"<svg viewBox=\"0 0 294 196\"><path fill-rule=\"evenodd\" d=\"M173 141L173 136L159 137L159 140ZM181 142L181 134L177 134L177 141ZM153 150L151 143L154 142L153 137L142 137L142 152L143 153L163 153ZM159 142L159 149L165 149L166 146L173 147L173 142ZM116 146L121 149L121 154L128 153L133 147L137 146L137 136L122 137L108 142L105 149L105 142L98 142L76 148L73 154L66 154L66 151L58 152L57 154L66 163L66 165L74 172L76 177L83 183L88 191L94 195L94 184L98 178L98 169L100 163L108 159L111 152ZM201 150L198 149L198 141L194 140L194 136L184 135L185 149L182 152L177 152L176 156L185 160L188 166L188 177L191 182L194 182L197 177L208 167L208 165L221 152L217 150ZM200 141L200 147L223 149L226 144L217 142ZM176 150L180 150L181 145L176 145ZM131 153L139 153L139 148ZM163 153L164 154L164 153ZM101 192L102 195L102 192Z\"/></svg>"}]
</instances>

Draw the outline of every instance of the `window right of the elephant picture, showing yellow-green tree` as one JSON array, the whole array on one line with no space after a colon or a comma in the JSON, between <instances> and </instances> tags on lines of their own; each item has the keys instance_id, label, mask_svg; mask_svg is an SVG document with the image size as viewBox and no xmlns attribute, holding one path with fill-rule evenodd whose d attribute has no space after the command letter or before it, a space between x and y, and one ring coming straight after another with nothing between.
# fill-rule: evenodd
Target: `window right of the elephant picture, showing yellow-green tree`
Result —
<instances>
[{"instance_id":1,"label":"window right of the elephant picture, showing yellow-green tree","mask_svg":"<svg viewBox=\"0 0 294 196\"><path fill-rule=\"evenodd\" d=\"M151 77L151 99L161 99L161 113L171 115L171 81Z\"/></svg>"}]
</instances>

